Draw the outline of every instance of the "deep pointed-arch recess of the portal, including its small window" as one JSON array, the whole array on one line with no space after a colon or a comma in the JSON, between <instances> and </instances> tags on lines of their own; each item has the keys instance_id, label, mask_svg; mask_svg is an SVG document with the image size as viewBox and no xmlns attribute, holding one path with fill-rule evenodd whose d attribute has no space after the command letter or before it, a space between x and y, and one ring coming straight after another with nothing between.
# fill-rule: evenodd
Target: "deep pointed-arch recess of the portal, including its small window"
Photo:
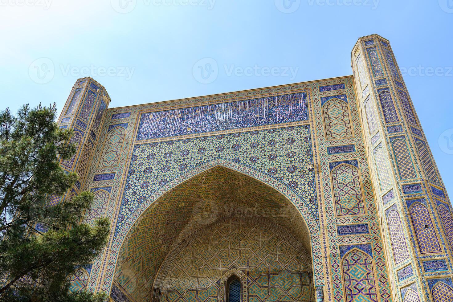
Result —
<instances>
[{"instance_id":1,"label":"deep pointed-arch recess of the portal, including its small window","mask_svg":"<svg viewBox=\"0 0 453 302\"><path fill-rule=\"evenodd\" d=\"M280 192L217 166L140 216L114 283L135 301L313 301L310 243Z\"/></svg>"}]
</instances>

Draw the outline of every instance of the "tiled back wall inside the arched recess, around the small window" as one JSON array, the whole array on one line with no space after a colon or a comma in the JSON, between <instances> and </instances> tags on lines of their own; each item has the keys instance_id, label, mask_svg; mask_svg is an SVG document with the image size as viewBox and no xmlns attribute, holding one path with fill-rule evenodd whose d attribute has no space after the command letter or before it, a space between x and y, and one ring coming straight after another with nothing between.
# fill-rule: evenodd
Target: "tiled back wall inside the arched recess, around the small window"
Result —
<instances>
[{"instance_id":1,"label":"tiled back wall inside the arched recess, around the small window","mask_svg":"<svg viewBox=\"0 0 453 302\"><path fill-rule=\"evenodd\" d=\"M162 264L160 301L222 301L218 281L233 267L246 273L246 283L231 282L228 301L240 301L241 285L247 301L313 301L307 256L282 234L236 217L198 231Z\"/></svg>"}]
</instances>

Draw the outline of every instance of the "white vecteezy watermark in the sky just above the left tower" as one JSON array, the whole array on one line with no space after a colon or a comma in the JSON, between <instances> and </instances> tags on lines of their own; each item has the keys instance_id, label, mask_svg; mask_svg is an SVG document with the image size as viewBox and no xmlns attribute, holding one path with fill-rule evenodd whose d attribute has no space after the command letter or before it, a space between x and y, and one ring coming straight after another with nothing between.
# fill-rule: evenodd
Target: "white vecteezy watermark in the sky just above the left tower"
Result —
<instances>
[{"instance_id":1,"label":"white vecteezy watermark in the sky just above the left tower","mask_svg":"<svg viewBox=\"0 0 453 302\"><path fill-rule=\"evenodd\" d=\"M38 84L45 84L52 81L55 72L61 72L63 77L124 77L130 80L134 74L135 67L128 66L72 66L70 64L58 64L57 68L49 58L34 60L29 66L29 76L32 81Z\"/></svg>"}]
</instances>

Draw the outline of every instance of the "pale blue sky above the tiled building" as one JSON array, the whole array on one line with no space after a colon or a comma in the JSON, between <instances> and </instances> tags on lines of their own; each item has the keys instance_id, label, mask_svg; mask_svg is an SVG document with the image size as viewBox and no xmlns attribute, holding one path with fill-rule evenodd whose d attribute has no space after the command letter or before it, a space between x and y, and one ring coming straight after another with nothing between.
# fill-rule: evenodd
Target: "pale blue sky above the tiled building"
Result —
<instances>
[{"instance_id":1,"label":"pale blue sky above the tiled building","mask_svg":"<svg viewBox=\"0 0 453 302\"><path fill-rule=\"evenodd\" d=\"M350 75L357 38L380 34L453 192L453 0L0 0L0 26L0 108L14 111L61 108L85 76L119 107Z\"/></svg>"}]
</instances>

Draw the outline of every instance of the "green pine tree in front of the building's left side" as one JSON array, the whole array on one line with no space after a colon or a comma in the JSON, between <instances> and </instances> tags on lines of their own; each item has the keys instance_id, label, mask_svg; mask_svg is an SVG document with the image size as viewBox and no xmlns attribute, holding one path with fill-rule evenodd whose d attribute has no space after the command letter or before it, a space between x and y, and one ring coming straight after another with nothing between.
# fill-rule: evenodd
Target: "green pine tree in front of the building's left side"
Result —
<instances>
[{"instance_id":1,"label":"green pine tree in front of the building's left side","mask_svg":"<svg viewBox=\"0 0 453 302\"><path fill-rule=\"evenodd\" d=\"M0 114L0 300L96 301L105 293L69 292L69 276L105 247L109 220L82 224L93 195L82 192L50 206L77 181L59 159L68 159L72 130L55 123L56 105ZM37 227L37 224L40 227ZM46 229L47 231L43 231Z\"/></svg>"}]
</instances>

